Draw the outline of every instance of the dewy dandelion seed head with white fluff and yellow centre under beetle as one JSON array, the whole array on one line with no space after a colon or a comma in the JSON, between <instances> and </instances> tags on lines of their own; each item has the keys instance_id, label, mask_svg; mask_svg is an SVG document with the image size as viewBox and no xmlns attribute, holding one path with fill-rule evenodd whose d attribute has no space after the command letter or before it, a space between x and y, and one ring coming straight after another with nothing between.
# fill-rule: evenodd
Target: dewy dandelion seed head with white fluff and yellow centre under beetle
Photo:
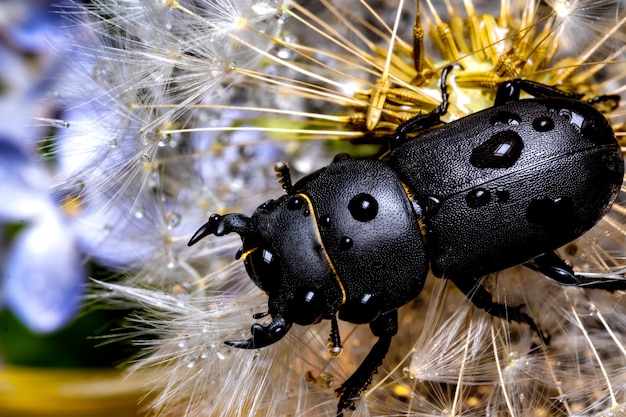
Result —
<instances>
[{"instance_id":1,"label":"dewy dandelion seed head with white fluff and yellow centre under beetle","mask_svg":"<svg viewBox=\"0 0 626 417\"><path fill-rule=\"evenodd\" d=\"M77 48L87 72L69 84L89 113L70 120L59 155L80 163L61 182L102 204L85 205L112 245L99 259L137 255L98 297L135 308L128 337L144 350L129 369L158 371L145 405L163 416L332 416L334 389L374 341L367 326L340 323L343 354L331 358L320 323L260 350L223 343L248 338L267 299L232 261L237 237L185 243L208 213L250 213L279 194L274 160L301 175L328 163L331 141L384 149L400 123L439 104L451 64L446 121L490 107L512 78L586 98L626 85L626 12L613 1L96 0L66 13L87 23ZM607 113L620 138L625 116L624 104ZM118 227L111 210L130 220ZM620 200L560 254L577 271L623 275L625 215ZM522 267L483 283L496 301L524 304L550 344L431 276L400 310L354 416L624 413L621 292L560 287Z\"/></svg>"}]
</instances>

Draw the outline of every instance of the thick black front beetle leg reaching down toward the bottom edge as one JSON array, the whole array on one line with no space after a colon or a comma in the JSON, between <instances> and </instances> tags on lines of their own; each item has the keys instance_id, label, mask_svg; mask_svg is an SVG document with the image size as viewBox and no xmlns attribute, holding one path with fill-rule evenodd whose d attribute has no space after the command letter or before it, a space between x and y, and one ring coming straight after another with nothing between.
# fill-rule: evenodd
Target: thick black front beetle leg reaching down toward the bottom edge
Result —
<instances>
[{"instance_id":1,"label":"thick black front beetle leg reaching down toward the bottom edge","mask_svg":"<svg viewBox=\"0 0 626 417\"><path fill-rule=\"evenodd\" d=\"M372 381L372 376L382 365L383 359L389 351L391 338L398 332L398 312L397 310L381 314L376 320L370 323L370 329L374 336L378 336L378 341L367 354L361 365L339 388L335 390L340 396L337 405L337 417L343 417L343 410L354 410L354 401L359 394Z\"/></svg>"}]
</instances>

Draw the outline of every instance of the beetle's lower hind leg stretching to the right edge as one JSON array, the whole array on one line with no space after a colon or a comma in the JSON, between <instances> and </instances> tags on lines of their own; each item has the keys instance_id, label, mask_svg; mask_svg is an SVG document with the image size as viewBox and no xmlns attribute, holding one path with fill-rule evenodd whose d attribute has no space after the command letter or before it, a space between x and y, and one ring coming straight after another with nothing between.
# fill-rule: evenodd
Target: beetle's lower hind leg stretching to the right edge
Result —
<instances>
[{"instance_id":1,"label":"beetle's lower hind leg stretching to the right edge","mask_svg":"<svg viewBox=\"0 0 626 417\"><path fill-rule=\"evenodd\" d=\"M585 275L576 274L571 266L561 259L555 252L546 252L524 264L527 268L543 274L546 278L559 285L585 288L600 288L608 291L626 289L626 279L623 275Z\"/></svg>"}]
</instances>

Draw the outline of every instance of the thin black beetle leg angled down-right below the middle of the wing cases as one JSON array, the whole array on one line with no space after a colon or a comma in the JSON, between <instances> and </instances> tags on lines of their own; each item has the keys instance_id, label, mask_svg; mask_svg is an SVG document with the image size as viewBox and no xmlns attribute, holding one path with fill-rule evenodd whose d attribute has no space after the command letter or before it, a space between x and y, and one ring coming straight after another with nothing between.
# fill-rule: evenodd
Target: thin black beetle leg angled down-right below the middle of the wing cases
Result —
<instances>
[{"instance_id":1,"label":"thin black beetle leg angled down-right below the middle of the wing cases","mask_svg":"<svg viewBox=\"0 0 626 417\"><path fill-rule=\"evenodd\" d=\"M543 334L532 317L522 312L523 305L510 306L494 302L491 293L477 280L464 278L453 279L452 282L476 307L485 310L492 316L500 317L509 322L516 321L527 324L543 343L549 344L550 337Z\"/></svg>"}]
</instances>

